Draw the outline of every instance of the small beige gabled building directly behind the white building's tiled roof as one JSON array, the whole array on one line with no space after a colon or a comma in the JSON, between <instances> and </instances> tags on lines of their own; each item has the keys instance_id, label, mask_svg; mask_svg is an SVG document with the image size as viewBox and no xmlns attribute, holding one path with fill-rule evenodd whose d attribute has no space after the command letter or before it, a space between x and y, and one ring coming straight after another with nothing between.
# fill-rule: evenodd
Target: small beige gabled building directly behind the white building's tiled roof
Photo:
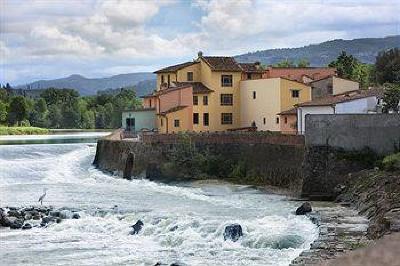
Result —
<instances>
[{"instance_id":1,"label":"small beige gabled building directly behind the white building's tiled roof","mask_svg":"<svg viewBox=\"0 0 400 266\"><path fill-rule=\"evenodd\" d=\"M358 82L339 78L334 75L311 81L310 85L313 100L360 89Z\"/></svg>"}]
</instances>

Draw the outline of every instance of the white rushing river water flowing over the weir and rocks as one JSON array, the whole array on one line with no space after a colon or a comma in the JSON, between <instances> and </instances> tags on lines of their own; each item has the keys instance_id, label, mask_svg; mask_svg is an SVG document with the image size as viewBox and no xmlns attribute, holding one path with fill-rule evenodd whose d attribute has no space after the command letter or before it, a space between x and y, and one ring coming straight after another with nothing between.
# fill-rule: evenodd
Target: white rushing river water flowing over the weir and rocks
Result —
<instances>
[{"instance_id":1,"label":"white rushing river water flowing over the weir and rocks","mask_svg":"<svg viewBox=\"0 0 400 266\"><path fill-rule=\"evenodd\" d=\"M92 166L98 136L0 140L0 206L37 205L47 188L45 205L81 210L81 219L47 228L0 228L1 265L288 265L318 235L308 218L293 214L298 202L252 187L102 173ZM138 219L144 227L130 235ZM244 236L224 241L232 223Z\"/></svg>"}]
</instances>

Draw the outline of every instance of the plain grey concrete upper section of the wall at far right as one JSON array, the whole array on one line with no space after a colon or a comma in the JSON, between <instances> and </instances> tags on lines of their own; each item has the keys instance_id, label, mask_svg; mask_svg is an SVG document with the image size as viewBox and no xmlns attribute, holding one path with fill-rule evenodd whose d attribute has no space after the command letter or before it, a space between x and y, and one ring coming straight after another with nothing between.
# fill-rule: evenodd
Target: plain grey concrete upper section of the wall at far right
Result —
<instances>
[{"instance_id":1,"label":"plain grey concrete upper section of the wall at far right","mask_svg":"<svg viewBox=\"0 0 400 266\"><path fill-rule=\"evenodd\" d=\"M400 142L400 115L312 115L306 117L306 129L306 146L328 144L348 151L369 147L388 154Z\"/></svg>"}]
</instances>

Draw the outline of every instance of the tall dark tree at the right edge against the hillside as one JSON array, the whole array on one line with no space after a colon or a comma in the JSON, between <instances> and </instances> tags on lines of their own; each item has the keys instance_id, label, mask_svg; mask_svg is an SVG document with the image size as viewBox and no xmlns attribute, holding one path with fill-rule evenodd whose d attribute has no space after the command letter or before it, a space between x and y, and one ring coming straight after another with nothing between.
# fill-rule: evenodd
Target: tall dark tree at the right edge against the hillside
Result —
<instances>
[{"instance_id":1,"label":"tall dark tree at the right edge against the hillside","mask_svg":"<svg viewBox=\"0 0 400 266\"><path fill-rule=\"evenodd\" d=\"M376 80L379 84L400 83L400 49L393 48L380 52L376 57L375 67Z\"/></svg>"}]
</instances>

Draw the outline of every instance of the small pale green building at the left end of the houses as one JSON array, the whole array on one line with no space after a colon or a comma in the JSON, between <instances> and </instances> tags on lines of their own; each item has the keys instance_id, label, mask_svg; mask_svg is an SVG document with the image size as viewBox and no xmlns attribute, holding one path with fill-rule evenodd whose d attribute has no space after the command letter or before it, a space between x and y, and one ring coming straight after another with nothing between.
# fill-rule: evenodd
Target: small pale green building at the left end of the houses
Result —
<instances>
[{"instance_id":1,"label":"small pale green building at the left end of the houses","mask_svg":"<svg viewBox=\"0 0 400 266\"><path fill-rule=\"evenodd\" d=\"M124 111L122 112L122 128L129 132L154 131L157 129L155 116L155 108Z\"/></svg>"}]
</instances>

